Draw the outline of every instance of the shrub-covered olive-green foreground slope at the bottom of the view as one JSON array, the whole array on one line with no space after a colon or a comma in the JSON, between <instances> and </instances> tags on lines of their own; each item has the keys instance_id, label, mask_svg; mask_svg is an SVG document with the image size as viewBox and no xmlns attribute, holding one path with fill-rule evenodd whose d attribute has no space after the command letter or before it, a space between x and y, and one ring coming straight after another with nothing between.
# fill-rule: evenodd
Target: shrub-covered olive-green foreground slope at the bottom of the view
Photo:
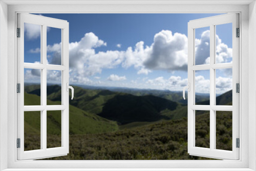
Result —
<instances>
[{"instance_id":1,"label":"shrub-covered olive-green foreground slope at the bottom of the view","mask_svg":"<svg viewBox=\"0 0 256 171\"><path fill-rule=\"evenodd\" d=\"M207 123L208 114L196 116ZM217 148L231 150L232 116L217 117ZM208 147L209 124L196 123L196 144ZM104 134L71 135L70 153L49 160L209 160L187 153L187 118L160 121Z\"/></svg>"}]
</instances>

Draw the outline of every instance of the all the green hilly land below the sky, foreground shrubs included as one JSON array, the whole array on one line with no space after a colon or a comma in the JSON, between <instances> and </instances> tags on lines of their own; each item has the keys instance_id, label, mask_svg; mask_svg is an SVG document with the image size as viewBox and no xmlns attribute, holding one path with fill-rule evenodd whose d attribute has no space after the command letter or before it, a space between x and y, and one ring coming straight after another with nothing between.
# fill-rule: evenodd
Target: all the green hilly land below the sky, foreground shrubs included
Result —
<instances>
[{"instance_id":1,"label":"all the green hilly land below the sky, foreground shrubs included","mask_svg":"<svg viewBox=\"0 0 256 171\"><path fill-rule=\"evenodd\" d=\"M25 105L40 100L40 94L32 93L39 92L35 87L26 88ZM55 86L48 90L60 89ZM70 105L70 152L48 160L208 159L187 153L186 105L152 95L77 90ZM59 103L59 93L48 92L47 96L48 104ZM133 117L129 118L129 114ZM36 112L25 115L26 150L40 148L38 116ZM232 150L232 113L218 112L216 119L216 147ZM57 113L47 116L47 126L48 147L59 146L61 121ZM209 147L209 133L209 113L196 112L196 146Z\"/></svg>"}]
</instances>

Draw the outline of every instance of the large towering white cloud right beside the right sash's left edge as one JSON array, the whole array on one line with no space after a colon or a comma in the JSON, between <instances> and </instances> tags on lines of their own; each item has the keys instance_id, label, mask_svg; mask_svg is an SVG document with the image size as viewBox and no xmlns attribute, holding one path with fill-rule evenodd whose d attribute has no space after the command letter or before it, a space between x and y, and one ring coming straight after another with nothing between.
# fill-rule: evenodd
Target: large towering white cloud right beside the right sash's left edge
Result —
<instances>
[{"instance_id":1,"label":"large towering white cloud right beside the right sash's left edge","mask_svg":"<svg viewBox=\"0 0 256 171\"><path fill-rule=\"evenodd\" d=\"M154 37L151 53L143 62L151 70L186 70L187 37L184 34L162 30Z\"/></svg>"}]
</instances>

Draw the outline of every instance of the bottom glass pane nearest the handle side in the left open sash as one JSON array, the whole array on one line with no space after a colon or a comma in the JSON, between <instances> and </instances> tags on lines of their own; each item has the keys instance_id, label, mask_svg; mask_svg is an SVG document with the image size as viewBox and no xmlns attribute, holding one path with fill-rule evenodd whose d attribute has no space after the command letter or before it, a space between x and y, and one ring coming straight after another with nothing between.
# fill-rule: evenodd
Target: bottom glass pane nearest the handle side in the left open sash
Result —
<instances>
[{"instance_id":1,"label":"bottom glass pane nearest the handle side in the left open sash","mask_svg":"<svg viewBox=\"0 0 256 171\"><path fill-rule=\"evenodd\" d=\"M61 146L61 111L47 111L47 148Z\"/></svg>"}]
</instances>

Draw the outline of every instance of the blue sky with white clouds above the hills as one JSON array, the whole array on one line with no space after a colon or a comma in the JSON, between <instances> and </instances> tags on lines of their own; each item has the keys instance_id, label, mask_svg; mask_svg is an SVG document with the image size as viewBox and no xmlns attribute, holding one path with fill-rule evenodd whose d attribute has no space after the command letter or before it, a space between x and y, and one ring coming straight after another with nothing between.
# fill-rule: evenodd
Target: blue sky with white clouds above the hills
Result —
<instances>
[{"instance_id":1,"label":"blue sky with white clouds above the hills","mask_svg":"<svg viewBox=\"0 0 256 171\"><path fill-rule=\"evenodd\" d=\"M41 15L68 20L69 22L71 83L91 86L181 90L186 84L187 78L187 23L189 20L219 14ZM29 34L26 34L29 32L29 28L25 31L25 62L36 62L40 58L40 53L36 51L40 48L40 37L33 34L29 37ZM225 47L226 49L229 48L230 51L232 48L230 28L231 24L217 26L216 32L221 39L220 49ZM198 59L202 60L200 61L201 64L206 62L205 58L207 58L208 52L206 30L208 28L196 30L198 47L201 50L198 51ZM60 33L60 29L55 28L50 28L47 31L49 63L59 64L57 45L60 42ZM204 38L202 37L203 33ZM82 38L83 40L81 40ZM54 46L54 44L56 45ZM137 50L136 44L138 44ZM163 48L165 45L166 48ZM220 59L223 59L222 50L220 54L218 54ZM225 61L230 62L232 58L225 58L225 55ZM100 61L102 64L99 63ZM220 60L220 62L223 61ZM209 75L206 73L200 72L199 75L204 77L204 79L198 79L200 84L203 83L200 81L207 82L209 79ZM27 80L33 80L31 78L35 74L27 73L27 70L25 77L26 74ZM225 76L222 72L219 76L230 78L230 75ZM54 78L51 80L54 82ZM199 88L199 92L204 93L205 89L205 87ZM220 90L219 93L226 90Z\"/></svg>"}]
</instances>

